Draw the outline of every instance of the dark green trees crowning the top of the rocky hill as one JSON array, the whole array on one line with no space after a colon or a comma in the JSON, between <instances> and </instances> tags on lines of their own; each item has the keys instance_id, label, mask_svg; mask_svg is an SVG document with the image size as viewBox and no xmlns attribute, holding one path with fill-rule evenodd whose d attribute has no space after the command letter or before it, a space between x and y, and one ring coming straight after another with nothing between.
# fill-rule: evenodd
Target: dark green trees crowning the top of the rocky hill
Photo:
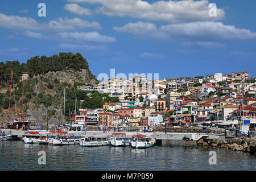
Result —
<instances>
[{"instance_id":1,"label":"dark green trees crowning the top of the rocky hill","mask_svg":"<svg viewBox=\"0 0 256 182\"><path fill-rule=\"evenodd\" d=\"M81 69L88 68L89 65L86 59L80 53L73 54L72 52L60 52L59 55L49 57L35 56L27 60L27 63L22 64L19 61L6 61L6 63L0 63L0 84L10 82L11 70L13 70L13 80L17 83L24 72L27 72L32 77L49 71L63 71L65 69L81 71ZM92 76L92 74L89 76Z\"/></svg>"}]
</instances>

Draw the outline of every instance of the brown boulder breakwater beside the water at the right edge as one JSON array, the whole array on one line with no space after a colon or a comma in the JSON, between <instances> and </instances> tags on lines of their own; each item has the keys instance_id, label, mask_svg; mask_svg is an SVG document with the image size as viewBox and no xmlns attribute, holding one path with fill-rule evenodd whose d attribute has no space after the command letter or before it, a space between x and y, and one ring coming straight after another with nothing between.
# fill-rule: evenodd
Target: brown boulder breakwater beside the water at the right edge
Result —
<instances>
[{"instance_id":1,"label":"brown boulder breakwater beside the water at the right edge","mask_svg":"<svg viewBox=\"0 0 256 182\"><path fill-rule=\"evenodd\" d=\"M243 151L243 152L250 152L250 153L256 154L256 137L251 137L251 138L236 137L236 138L224 139L224 140L200 139L197 142L197 145L221 147L221 148L226 148L234 151Z\"/></svg>"}]
</instances>

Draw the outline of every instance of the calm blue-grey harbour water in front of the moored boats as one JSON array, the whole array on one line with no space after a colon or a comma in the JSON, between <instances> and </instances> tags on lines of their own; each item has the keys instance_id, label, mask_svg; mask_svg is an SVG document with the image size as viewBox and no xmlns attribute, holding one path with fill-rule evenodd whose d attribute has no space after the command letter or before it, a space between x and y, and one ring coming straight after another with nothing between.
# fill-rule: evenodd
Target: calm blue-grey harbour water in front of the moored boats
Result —
<instances>
[{"instance_id":1,"label":"calm blue-grey harbour water in front of the moored boats","mask_svg":"<svg viewBox=\"0 0 256 182\"><path fill-rule=\"evenodd\" d=\"M210 150L217 153L217 165L208 163ZM46 165L38 164L39 151L46 152ZM0 170L255 170L255 156L184 141L146 149L0 142Z\"/></svg>"}]
</instances>

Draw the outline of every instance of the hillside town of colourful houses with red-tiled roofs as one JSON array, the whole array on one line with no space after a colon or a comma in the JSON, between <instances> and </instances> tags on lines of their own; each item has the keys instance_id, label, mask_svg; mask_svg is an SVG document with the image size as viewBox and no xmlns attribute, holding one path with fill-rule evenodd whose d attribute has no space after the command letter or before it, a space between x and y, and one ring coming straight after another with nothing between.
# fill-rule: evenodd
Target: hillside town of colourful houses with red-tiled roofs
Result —
<instances>
[{"instance_id":1,"label":"hillside town of colourful houses with red-tiled roofs","mask_svg":"<svg viewBox=\"0 0 256 182\"><path fill-rule=\"evenodd\" d=\"M192 126L218 123L237 129L241 118L250 119L250 130L256 124L256 80L249 72L193 78L149 80L134 76L110 78L93 88L79 86L88 94L103 93L118 98L104 102L102 108L79 109L72 122L100 126ZM242 116L242 117L241 117Z\"/></svg>"}]
</instances>

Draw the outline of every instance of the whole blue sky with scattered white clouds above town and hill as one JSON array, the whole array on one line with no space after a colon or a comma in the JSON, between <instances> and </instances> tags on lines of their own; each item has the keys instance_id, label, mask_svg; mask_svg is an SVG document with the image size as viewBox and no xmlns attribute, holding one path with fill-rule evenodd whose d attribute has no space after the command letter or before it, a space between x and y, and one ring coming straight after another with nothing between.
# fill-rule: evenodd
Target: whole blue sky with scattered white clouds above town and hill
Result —
<instances>
[{"instance_id":1,"label":"whole blue sky with scattered white clouds above town and hill","mask_svg":"<svg viewBox=\"0 0 256 182\"><path fill-rule=\"evenodd\" d=\"M46 5L46 16L39 16ZM216 4L216 16L209 4ZM256 77L256 1L0 2L0 61L80 52L93 75ZM210 11L211 13L214 11Z\"/></svg>"}]
</instances>

